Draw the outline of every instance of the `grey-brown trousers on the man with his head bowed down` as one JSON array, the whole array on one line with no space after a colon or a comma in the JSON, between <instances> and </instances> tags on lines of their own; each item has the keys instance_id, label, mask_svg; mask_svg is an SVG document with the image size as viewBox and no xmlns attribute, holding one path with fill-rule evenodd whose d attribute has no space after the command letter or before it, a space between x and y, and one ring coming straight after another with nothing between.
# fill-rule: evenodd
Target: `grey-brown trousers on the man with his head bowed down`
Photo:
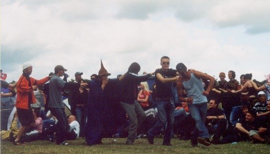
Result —
<instances>
[{"instance_id":1,"label":"grey-brown trousers on the man with his head bowed down","mask_svg":"<svg viewBox=\"0 0 270 154\"><path fill-rule=\"evenodd\" d=\"M137 128L144 122L146 114L141 105L134 100L134 104L128 104L120 101L122 107L128 115L130 124L128 128L127 141L134 142L136 139Z\"/></svg>"}]
</instances>

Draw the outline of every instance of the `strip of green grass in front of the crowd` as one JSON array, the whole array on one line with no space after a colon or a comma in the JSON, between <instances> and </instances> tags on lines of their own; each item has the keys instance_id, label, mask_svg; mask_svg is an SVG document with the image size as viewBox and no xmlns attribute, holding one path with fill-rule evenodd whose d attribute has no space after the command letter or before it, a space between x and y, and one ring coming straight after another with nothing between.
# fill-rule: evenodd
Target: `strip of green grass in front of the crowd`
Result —
<instances>
[{"instance_id":1,"label":"strip of green grass in front of the crowd","mask_svg":"<svg viewBox=\"0 0 270 154\"><path fill-rule=\"evenodd\" d=\"M87 146L84 139L69 141L68 146L59 146L49 141L34 141L27 145L14 146L1 141L1 154L270 154L270 145L241 142L237 144L199 145L192 147L190 141L173 138L172 146L162 146L162 138L155 138L154 145L147 139L137 139L134 145L125 145L125 138L104 138L102 145Z\"/></svg>"}]
</instances>

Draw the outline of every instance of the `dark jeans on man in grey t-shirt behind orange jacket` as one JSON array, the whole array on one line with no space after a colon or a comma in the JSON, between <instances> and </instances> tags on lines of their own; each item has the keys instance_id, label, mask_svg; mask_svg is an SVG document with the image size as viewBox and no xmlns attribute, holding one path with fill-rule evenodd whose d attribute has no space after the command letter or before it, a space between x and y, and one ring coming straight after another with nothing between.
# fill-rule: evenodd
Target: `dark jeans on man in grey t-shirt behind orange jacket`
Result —
<instances>
[{"instance_id":1,"label":"dark jeans on man in grey t-shirt behind orange jacket","mask_svg":"<svg viewBox=\"0 0 270 154\"><path fill-rule=\"evenodd\" d=\"M50 108L51 114L56 117L58 123L56 124L56 144L60 144L66 140L69 123L64 108Z\"/></svg>"}]
</instances>

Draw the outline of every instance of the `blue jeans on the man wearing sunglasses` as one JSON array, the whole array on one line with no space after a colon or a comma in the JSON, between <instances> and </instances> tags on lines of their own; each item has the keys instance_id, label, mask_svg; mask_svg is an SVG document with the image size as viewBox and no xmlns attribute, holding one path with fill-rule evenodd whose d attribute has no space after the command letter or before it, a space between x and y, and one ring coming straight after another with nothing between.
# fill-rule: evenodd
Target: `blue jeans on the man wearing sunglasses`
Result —
<instances>
[{"instance_id":1,"label":"blue jeans on the man wearing sunglasses","mask_svg":"<svg viewBox=\"0 0 270 154\"><path fill-rule=\"evenodd\" d=\"M148 134L155 136L160 133L161 128L167 123L165 134L163 138L163 144L171 142L171 132L173 130L174 123L174 102L173 98L155 98L157 106L158 121L154 126L148 130Z\"/></svg>"}]
</instances>

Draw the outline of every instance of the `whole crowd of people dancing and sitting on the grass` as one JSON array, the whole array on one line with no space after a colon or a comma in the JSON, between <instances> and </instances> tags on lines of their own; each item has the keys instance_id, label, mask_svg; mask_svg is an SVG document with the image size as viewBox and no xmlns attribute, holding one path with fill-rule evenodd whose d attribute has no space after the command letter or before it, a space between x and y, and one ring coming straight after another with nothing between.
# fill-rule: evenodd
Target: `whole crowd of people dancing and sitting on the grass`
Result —
<instances>
[{"instance_id":1,"label":"whole crowd of people dancing and sitting on the grass","mask_svg":"<svg viewBox=\"0 0 270 154\"><path fill-rule=\"evenodd\" d=\"M241 75L238 83L231 70L229 81L220 72L217 82L184 63L169 68L167 56L160 65L138 75L141 67L133 62L123 75L110 79L101 62L90 80L76 72L75 81L68 82L62 65L37 80L30 77L33 65L26 62L17 82L1 80L1 97L10 97L14 104L1 140L14 145L35 140L69 145L68 140L83 137L93 146L111 137L126 137L126 145L142 137L154 144L156 136L163 136L162 145L171 146L176 135L191 140L192 146L240 141L270 144L270 75L263 85L253 82L252 74ZM149 90L146 81L153 75L153 90ZM68 97L71 115L66 114L63 96Z\"/></svg>"}]
</instances>

